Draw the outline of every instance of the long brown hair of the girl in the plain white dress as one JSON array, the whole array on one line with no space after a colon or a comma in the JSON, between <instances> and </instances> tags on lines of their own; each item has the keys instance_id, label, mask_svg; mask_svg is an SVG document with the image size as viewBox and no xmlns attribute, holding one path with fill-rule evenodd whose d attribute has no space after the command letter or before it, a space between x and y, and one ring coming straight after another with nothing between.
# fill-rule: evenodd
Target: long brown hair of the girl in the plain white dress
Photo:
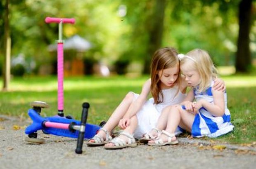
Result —
<instances>
[{"instance_id":1,"label":"long brown hair of the girl in the plain white dress","mask_svg":"<svg viewBox=\"0 0 256 169\"><path fill-rule=\"evenodd\" d=\"M163 47L161 49L158 49L151 61L151 94L154 98L154 104L162 103L164 100L163 93L161 91L161 81L158 72L160 70L164 70L167 68L173 68L175 66L179 66L179 59L178 59L178 52L176 49L171 47ZM180 70L180 69L179 69ZM162 76L162 75L161 75ZM175 81L175 83L178 83L178 87L180 87L180 71L178 72L178 78ZM178 89L179 91L179 89ZM178 92L177 92L178 93ZM161 95L161 100L159 97L159 94Z\"/></svg>"}]
</instances>

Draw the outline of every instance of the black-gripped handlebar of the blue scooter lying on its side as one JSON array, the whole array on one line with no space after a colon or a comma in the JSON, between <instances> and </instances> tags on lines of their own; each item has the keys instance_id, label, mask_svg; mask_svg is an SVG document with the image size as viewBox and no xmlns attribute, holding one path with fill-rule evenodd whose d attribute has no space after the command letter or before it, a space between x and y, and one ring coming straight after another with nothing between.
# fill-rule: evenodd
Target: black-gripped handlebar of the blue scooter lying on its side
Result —
<instances>
[{"instance_id":1,"label":"black-gripped handlebar of the blue scooter lying on its side","mask_svg":"<svg viewBox=\"0 0 256 169\"><path fill-rule=\"evenodd\" d=\"M83 139L84 139L84 134L85 134L85 125L87 121L87 116L88 116L88 108L90 107L89 103L85 102L83 103L83 110L82 110L82 116L81 116L81 127L79 130L79 135L77 139L77 145L76 145L76 153L77 154L82 154L83 153Z\"/></svg>"}]
</instances>

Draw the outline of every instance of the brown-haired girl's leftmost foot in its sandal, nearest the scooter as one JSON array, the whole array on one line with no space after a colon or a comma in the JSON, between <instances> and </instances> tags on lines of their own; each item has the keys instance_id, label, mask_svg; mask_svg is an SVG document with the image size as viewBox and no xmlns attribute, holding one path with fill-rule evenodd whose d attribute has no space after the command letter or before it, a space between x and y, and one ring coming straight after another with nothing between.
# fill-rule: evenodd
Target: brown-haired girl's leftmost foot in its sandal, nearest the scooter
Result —
<instances>
[{"instance_id":1,"label":"brown-haired girl's leftmost foot in its sandal, nearest the scooter","mask_svg":"<svg viewBox=\"0 0 256 169\"><path fill-rule=\"evenodd\" d=\"M109 131L101 128L99 132L87 142L87 146L103 146L112 140Z\"/></svg>"}]
</instances>

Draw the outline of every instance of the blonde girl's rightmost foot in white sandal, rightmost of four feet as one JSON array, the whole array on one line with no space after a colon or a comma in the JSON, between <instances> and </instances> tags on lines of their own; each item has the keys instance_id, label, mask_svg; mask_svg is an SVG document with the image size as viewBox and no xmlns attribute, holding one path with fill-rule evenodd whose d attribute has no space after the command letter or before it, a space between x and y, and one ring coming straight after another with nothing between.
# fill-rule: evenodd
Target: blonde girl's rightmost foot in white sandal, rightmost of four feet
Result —
<instances>
[{"instance_id":1,"label":"blonde girl's rightmost foot in white sandal, rightmost of four feet","mask_svg":"<svg viewBox=\"0 0 256 169\"><path fill-rule=\"evenodd\" d=\"M162 134L159 136L159 138L148 142L149 146L164 146L173 144L178 144L178 140L175 137L175 134L170 134L164 130L162 131Z\"/></svg>"}]
</instances>

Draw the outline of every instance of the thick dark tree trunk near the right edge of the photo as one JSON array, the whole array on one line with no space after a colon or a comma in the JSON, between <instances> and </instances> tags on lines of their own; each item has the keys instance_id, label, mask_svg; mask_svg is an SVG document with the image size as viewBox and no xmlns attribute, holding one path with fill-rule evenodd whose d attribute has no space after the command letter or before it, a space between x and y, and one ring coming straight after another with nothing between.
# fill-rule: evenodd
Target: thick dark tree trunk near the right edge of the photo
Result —
<instances>
[{"instance_id":1,"label":"thick dark tree trunk near the right edge of the photo","mask_svg":"<svg viewBox=\"0 0 256 169\"><path fill-rule=\"evenodd\" d=\"M239 3L239 34L237 40L236 71L247 72L251 66L251 53L249 49L249 33L251 27L252 0L242 0Z\"/></svg>"}]
</instances>

